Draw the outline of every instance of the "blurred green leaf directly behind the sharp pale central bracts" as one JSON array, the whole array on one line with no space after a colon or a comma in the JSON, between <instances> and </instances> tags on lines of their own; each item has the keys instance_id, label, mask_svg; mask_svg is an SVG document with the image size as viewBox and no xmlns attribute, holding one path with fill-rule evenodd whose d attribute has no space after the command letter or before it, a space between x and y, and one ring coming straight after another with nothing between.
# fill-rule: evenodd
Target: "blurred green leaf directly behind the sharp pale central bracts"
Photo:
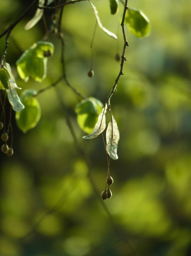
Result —
<instances>
[{"instance_id":1,"label":"blurred green leaf directly behind the sharp pale central bracts","mask_svg":"<svg viewBox=\"0 0 191 256\"><path fill-rule=\"evenodd\" d=\"M82 100L76 106L77 122L79 127L87 134L91 134L102 107L102 102L93 97Z\"/></svg>"}]
</instances>

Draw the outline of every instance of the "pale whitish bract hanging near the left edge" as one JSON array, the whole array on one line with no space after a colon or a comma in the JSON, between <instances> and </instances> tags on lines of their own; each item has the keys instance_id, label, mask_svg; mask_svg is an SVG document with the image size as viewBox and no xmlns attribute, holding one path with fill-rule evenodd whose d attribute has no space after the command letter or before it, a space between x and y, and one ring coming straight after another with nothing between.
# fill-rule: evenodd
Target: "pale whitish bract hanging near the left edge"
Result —
<instances>
[{"instance_id":1,"label":"pale whitish bract hanging near the left edge","mask_svg":"<svg viewBox=\"0 0 191 256\"><path fill-rule=\"evenodd\" d=\"M13 110L19 112L22 109L24 109L24 105L21 103L21 100L20 100L15 88L18 88L18 89L21 89L21 88L19 88L15 83L15 78L11 72L10 64L6 63L6 68L10 74L9 88L6 89L8 100L9 100L11 106L13 107Z\"/></svg>"}]
</instances>

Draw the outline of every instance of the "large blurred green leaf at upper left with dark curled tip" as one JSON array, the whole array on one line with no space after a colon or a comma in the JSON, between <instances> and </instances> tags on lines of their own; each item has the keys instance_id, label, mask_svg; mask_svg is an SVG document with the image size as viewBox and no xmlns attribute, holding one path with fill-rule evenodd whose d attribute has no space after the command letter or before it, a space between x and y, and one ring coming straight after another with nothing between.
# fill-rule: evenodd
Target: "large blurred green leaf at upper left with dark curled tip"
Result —
<instances>
[{"instance_id":1,"label":"large blurred green leaf at upper left with dark curled tip","mask_svg":"<svg viewBox=\"0 0 191 256\"><path fill-rule=\"evenodd\" d=\"M54 46L50 42L39 41L26 50L16 61L21 79L28 81L29 76L41 82L47 75L47 56L53 54Z\"/></svg>"}]
</instances>

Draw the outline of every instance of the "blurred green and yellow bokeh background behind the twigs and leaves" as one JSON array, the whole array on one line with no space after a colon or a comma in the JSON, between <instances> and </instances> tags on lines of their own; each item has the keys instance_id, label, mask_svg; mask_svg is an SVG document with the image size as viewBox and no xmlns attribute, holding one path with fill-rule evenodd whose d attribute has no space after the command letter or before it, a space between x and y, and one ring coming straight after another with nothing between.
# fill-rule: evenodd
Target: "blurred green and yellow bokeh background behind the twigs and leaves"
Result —
<instances>
[{"instance_id":1,"label":"blurred green and yellow bokeh background behind the twigs and leaves","mask_svg":"<svg viewBox=\"0 0 191 256\"><path fill-rule=\"evenodd\" d=\"M31 1L0 1L0 31L16 20ZM79 98L61 82L39 95L42 117L23 134L15 124L14 155L0 155L1 256L189 256L191 255L191 2L134 0L151 21L151 35L135 38L126 28L129 47L124 75L112 97L112 112L120 130L118 160L111 160L112 198L102 201L107 157L102 138L83 140L74 108ZM105 102L120 69L123 36L109 1L93 1L103 25L118 41L95 26L91 6L68 5L63 13L66 74L85 97ZM24 25L32 8L14 28L7 51L16 82L39 90L62 75L60 41L48 61L42 83L24 83L15 62L44 36L40 21ZM52 11L46 11L47 24ZM0 52L5 38L0 39ZM64 104L63 104L64 103ZM76 150L66 123L70 116L78 143L91 168Z\"/></svg>"}]
</instances>

